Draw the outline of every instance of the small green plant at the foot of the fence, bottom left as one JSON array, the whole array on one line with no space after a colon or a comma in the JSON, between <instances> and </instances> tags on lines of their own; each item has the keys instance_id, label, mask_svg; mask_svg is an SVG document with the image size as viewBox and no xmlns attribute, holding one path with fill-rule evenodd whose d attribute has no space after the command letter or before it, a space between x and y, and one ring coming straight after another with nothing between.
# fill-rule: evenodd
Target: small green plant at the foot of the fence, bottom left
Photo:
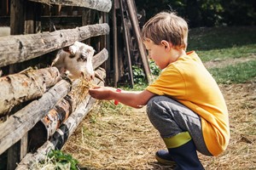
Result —
<instances>
[{"instance_id":1,"label":"small green plant at the foot of the fence, bottom left","mask_svg":"<svg viewBox=\"0 0 256 170\"><path fill-rule=\"evenodd\" d=\"M69 164L71 170L77 170L79 161L75 160L71 155L63 153L61 150L51 150L48 155L49 159L55 163L55 170Z\"/></svg>"}]
</instances>

